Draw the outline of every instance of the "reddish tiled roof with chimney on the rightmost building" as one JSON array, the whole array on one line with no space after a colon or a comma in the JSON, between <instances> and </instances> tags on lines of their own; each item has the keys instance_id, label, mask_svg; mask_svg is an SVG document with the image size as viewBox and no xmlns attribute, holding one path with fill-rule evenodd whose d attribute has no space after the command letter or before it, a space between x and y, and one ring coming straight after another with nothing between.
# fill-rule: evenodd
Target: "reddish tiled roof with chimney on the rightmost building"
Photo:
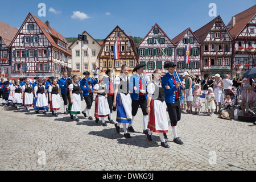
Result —
<instances>
[{"instance_id":1,"label":"reddish tiled roof with chimney on the rightmost building","mask_svg":"<svg viewBox=\"0 0 256 182\"><path fill-rule=\"evenodd\" d=\"M236 17L236 24L232 27L232 19L228 23L229 32L233 38L237 38L240 32L245 28L246 24L250 22L251 19L256 15L256 5L250 7L249 9L234 15Z\"/></svg>"}]
</instances>

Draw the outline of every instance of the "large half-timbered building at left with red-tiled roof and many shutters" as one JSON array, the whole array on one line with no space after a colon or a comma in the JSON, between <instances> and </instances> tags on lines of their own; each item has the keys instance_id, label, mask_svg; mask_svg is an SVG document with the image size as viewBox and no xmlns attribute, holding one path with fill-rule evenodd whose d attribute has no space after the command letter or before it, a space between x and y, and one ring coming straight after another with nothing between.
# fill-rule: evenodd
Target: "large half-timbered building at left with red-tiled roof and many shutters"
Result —
<instances>
[{"instance_id":1,"label":"large half-timbered building at left with red-tiled roof and many shutters","mask_svg":"<svg viewBox=\"0 0 256 182\"><path fill-rule=\"evenodd\" d=\"M12 77L60 77L71 67L67 44L48 21L29 13L11 42Z\"/></svg>"}]
</instances>

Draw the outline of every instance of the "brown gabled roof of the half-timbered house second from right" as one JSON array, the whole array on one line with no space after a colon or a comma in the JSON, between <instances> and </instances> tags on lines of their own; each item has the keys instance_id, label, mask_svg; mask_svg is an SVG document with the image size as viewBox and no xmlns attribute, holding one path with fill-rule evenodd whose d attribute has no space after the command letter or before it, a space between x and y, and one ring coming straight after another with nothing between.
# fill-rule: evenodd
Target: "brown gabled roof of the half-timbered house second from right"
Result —
<instances>
[{"instance_id":1,"label":"brown gabled roof of the half-timbered house second from right","mask_svg":"<svg viewBox=\"0 0 256 182\"><path fill-rule=\"evenodd\" d=\"M224 28L226 29L227 34L230 36L230 39L232 39L232 36L230 35L228 28L226 28L223 20L221 19L221 16L218 15L216 18L214 18L209 23L205 24L205 26L199 28L199 30L195 31L194 34L196 35L196 38L199 40L199 42L203 42L207 35L209 34L210 30L212 29L214 23L217 21L217 19L220 19L222 24L224 25Z\"/></svg>"}]
</instances>

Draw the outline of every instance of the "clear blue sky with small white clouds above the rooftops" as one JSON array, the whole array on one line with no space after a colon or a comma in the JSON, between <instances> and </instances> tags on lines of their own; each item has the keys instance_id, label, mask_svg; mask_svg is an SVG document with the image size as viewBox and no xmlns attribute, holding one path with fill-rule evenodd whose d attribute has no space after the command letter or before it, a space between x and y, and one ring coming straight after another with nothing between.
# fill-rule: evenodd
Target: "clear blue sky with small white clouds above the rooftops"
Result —
<instances>
[{"instance_id":1,"label":"clear blue sky with small white clouds above the rooftops","mask_svg":"<svg viewBox=\"0 0 256 182\"><path fill-rule=\"evenodd\" d=\"M39 3L46 5L46 17L39 17ZM208 15L210 3L216 3L217 15L227 25L236 15L256 4L256 0L0 0L0 20L20 27L32 13L65 37L77 37L84 30L94 39L105 39L119 26L127 35L144 38L155 23L173 39L186 28L196 31L215 17Z\"/></svg>"}]
</instances>

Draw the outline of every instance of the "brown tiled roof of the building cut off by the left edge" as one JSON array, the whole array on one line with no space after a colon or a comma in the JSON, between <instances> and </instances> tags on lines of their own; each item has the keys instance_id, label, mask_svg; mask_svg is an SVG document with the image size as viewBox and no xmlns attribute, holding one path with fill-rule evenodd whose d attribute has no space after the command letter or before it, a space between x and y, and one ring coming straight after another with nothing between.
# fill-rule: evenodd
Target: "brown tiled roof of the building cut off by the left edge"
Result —
<instances>
[{"instance_id":1,"label":"brown tiled roof of the building cut off by the left edge","mask_svg":"<svg viewBox=\"0 0 256 182\"><path fill-rule=\"evenodd\" d=\"M14 28L9 24L0 21L0 36L2 37L3 42L5 42L7 47L10 46L17 32L17 28Z\"/></svg>"}]
</instances>

